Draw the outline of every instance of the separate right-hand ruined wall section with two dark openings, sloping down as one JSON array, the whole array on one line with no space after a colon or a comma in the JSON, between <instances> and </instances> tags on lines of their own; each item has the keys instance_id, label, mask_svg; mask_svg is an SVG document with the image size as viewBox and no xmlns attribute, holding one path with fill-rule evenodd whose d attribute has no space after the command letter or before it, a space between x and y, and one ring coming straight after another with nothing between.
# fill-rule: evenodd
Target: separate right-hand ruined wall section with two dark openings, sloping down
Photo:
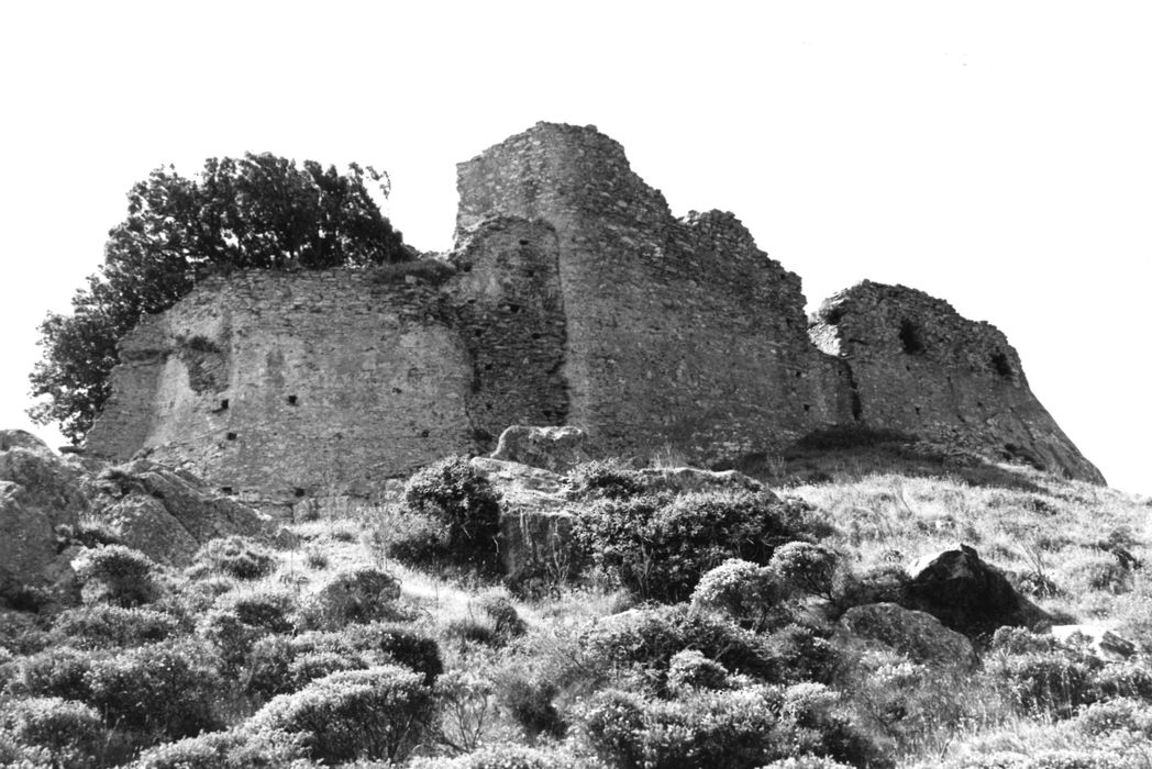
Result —
<instances>
[{"instance_id":1,"label":"separate right-hand ruined wall section with two dark openings, sloping down","mask_svg":"<svg viewBox=\"0 0 1152 769\"><path fill-rule=\"evenodd\" d=\"M850 367L865 424L1104 482L1032 395L1005 335L947 302L864 281L826 299L810 333Z\"/></svg>"}]
</instances>

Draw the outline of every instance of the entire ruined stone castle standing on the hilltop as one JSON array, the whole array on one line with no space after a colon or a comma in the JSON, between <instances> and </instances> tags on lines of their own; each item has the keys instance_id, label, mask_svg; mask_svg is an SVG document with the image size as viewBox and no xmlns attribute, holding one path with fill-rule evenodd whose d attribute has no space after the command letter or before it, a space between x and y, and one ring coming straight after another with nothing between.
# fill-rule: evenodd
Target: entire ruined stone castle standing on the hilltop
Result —
<instances>
[{"instance_id":1,"label":"entire ruined stone castle standing on the hilltop","mask_svg":"<svg viewBox=\"0 0 1152 769\"><path fill-rule=\"evenodd\" d=\"M371 495L511 424L700 464L864 424L1102 480L995 328L863 283L810 329L735 216L673 218L592 127L539 123L461 163L458 191L444 258L215 277L146 319L89 450L290 500Z\"/></svg>"}]
</instances>

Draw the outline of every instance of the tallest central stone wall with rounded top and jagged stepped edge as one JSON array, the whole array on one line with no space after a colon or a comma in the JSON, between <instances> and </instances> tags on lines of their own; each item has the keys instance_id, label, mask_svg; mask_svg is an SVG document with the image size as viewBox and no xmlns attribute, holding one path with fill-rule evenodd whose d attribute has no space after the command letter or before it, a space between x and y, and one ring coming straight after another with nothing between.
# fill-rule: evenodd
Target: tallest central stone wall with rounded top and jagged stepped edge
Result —
<instances>
[{"instance_id":1,"label":"tallest central stone wall with rounded top and jagged stepped edge","mask_svg":"<svg viewBox=\"0 0 1152 769\"><path fill-rule=\"evenodd\" d=\"M490 216L555 229L568 421L604 450L722 464L844 418L799 280L730 214L673 219L612 139L537 127L462 163L458 186L458 235Z\"/></svg>"}]
</instances>

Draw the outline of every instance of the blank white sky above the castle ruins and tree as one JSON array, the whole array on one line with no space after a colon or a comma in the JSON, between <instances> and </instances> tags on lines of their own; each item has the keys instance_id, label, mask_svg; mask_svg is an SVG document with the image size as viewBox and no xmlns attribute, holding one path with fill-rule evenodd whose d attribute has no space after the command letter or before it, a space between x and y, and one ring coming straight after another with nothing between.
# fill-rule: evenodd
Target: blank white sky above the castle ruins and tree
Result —
<instances>
[{"instance_id":1,"label":"blank white sky above the castle ruins and tree","mask_svg":"<svg viewBox=\"0 0 1152 769\"><path fill-rule=\"evenodd\" d=\"M733 211L813 307L870 277L993 322L1109 481L1152 493L1149 3L175 5L0 10L0 426L31 428L36 326L152 168L374 165L440 250L455 163L550 120L620 140L676 215Z\"/></svg>"}]
</instances>

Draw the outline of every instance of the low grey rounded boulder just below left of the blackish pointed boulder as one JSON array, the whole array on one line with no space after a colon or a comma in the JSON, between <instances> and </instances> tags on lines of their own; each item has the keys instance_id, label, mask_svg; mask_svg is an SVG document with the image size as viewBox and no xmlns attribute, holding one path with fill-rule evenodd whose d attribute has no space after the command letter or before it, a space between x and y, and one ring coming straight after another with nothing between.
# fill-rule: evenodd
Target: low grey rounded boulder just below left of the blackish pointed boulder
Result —
<instances>
[{"instance_id":1,"label":"low grey rounded boulder just below left of the blackish pointed boulder","mask_svg":"<svg viewBox=\"0 0 1152 769\"><path fill-rule=\"evenodd\" d=\"M836 637L842 644L881 644L914 662L965 669L976 664L972 642L964 635L930 614L895 603L852 607L840 618Z\"/></svg>"}]
</instances>

